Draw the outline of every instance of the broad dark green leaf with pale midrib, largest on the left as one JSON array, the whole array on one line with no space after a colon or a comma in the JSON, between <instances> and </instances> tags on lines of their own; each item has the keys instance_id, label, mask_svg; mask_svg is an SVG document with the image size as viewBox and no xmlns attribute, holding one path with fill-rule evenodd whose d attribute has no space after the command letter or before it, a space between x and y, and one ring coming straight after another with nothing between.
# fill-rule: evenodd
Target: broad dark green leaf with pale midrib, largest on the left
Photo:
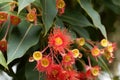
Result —
<instances>
[{"instance_id":1,"label":"broad dark green leaf with pale midrib, largest on the left","mask_svg":"<svg viewBox=\"0 0 120 80\"><path fill-rule=\"evenodd\" d=\"M7 64L22 57L30 47L38 43L41 28L29 25L30 23L22 21L19 26L13 29L8 39Z\"/></svg>"}]
</instances>

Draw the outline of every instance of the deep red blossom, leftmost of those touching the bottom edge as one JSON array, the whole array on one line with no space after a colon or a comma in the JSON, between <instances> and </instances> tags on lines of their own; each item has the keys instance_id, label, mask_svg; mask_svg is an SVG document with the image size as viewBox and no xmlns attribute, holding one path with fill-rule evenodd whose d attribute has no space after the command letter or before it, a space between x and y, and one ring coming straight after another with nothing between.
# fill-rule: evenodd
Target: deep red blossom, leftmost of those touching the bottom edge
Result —
<instances>
[{"instance_id":1,"label":"deep red blossom, leftmost of those touching the bottom edge","mask_svg":"<svg viewBox=\"0 0 120 80\"><path fill-rule=\"evenodd\" d=\"M58 80L59 74L62 72L62 67L58 64L53 64L47 71L47 80Z\"/></svg>"}]
</instances>

